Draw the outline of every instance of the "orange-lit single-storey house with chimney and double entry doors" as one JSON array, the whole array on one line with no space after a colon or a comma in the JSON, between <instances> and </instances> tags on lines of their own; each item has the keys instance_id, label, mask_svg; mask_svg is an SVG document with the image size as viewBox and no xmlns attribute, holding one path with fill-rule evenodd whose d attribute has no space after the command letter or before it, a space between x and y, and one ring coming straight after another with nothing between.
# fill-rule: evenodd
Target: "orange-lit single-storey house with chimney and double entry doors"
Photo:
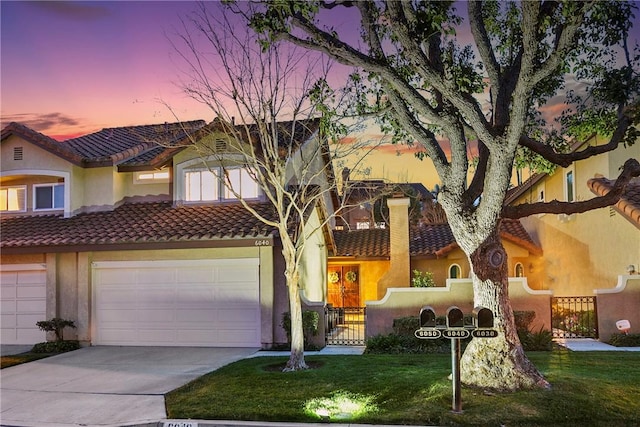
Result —
<instances>
[{"instance_id":1,"label":"orange-lit single-storey house with chimney and double entry doors","mask_svg":"<svg viewBox=\"0 0 640 427\"><path fill-rule=\"evenodd\" d=\"M431 272L437 286L469 277L469 262L447 223L411 224L409 198L388 199L390 226L335 230L336 253L329 257L327 301L336 307L364 306L390 288L411 286L414 270ZM503 220L502 242L513 277L527 276L539 287L542 249L517 220Z\"/></svg>"}]
</instances>

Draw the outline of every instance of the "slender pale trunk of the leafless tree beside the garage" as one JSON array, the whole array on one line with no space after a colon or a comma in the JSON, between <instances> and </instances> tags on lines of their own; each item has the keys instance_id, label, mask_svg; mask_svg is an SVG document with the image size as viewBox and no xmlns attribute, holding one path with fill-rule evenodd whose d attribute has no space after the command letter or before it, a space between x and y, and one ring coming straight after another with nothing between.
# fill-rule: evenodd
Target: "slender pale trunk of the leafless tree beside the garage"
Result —
<instances>
[{"instance_id":1,"label":"slender pale trunk of the leafless tree beside the garage","mask_svg":"<svg viewBox=\"0 0 640 427\"><path fill-rule=\"evenodd\" d=\"M286 246L286 245L285 245ZM285 279L289 289L289 311L291 313L291 355L284 372L308 369L304 361L304 331L302 327L302 303L300 301L299 273L293 256L285 256Z\"/></svg>"}]
</instances>

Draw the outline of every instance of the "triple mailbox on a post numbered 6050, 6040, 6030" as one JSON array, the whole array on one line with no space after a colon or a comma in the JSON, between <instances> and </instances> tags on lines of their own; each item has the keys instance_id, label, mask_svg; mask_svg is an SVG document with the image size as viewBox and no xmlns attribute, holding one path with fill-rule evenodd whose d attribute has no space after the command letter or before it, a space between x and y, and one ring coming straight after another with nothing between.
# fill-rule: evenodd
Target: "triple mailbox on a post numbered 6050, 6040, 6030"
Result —
<instances>
[{"instance_id":1,"label":"triple mailbox on a post numbered 6050, 6040, 6030","mask_svg":"<svg viewBox=\"0 0 640 427\"><path fill-rule=\"evenodd\" d=\"M493 312L488 308L476 307L471 313L473 324L465 325L464 313L456 306L447 309L446 325L438 325L436 312L431 306L420 310L420 329L415 331L416 338L451 340L451 378L453 380L453 396L451 411L462 413L462 387L460 384L460 340L474 338L495 338L498 331L493 328Z\"/></svg>"}]
</instances>

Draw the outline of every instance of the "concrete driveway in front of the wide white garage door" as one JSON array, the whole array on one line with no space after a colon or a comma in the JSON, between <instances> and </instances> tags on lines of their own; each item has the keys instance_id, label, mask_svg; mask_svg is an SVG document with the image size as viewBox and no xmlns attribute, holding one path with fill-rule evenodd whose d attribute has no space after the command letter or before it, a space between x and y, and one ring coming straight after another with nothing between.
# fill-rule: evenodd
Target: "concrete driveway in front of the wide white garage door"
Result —
<instances>
[{"instance_id":1,"label":"concrete driveway in front of the wide white garage door","mask_svg":"<svg viewBox=\"0 0 640 427\"><path fill-rule=\"evenodd\" d=\"M88 347L0 371L5 426L101 425L166 418L164 394L257 348Z\"/></svg>"}]
</instances>

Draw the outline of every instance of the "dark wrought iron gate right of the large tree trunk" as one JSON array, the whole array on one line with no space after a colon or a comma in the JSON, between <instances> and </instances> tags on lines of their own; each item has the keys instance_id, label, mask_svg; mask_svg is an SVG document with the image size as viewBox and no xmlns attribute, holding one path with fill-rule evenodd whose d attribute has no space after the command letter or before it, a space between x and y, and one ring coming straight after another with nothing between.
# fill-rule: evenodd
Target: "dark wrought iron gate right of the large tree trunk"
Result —
<instances>
[{"instance_id":1,"label":"dark wrought iron gate right of the large tree trunk","mask_svg":"<svg viewBox=\"0 0 640 427\"><path fill-rule=\"evenodd\" d=\"M598 338L596 297L552 297L554 338Z\"/></svg>"}]
</instances>

